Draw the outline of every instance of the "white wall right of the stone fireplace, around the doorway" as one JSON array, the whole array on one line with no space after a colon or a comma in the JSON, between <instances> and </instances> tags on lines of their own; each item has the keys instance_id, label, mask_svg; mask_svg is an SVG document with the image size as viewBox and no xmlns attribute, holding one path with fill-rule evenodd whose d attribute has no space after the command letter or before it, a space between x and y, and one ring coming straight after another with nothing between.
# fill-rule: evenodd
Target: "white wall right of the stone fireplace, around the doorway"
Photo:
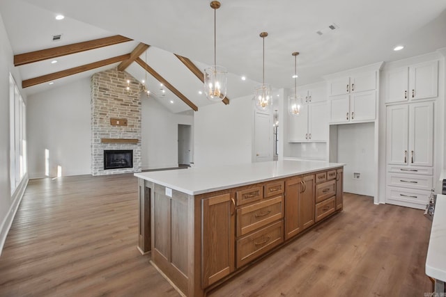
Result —
<instances>
[{"instance_id":1,"label":"white wall right of the stone fireplace, around the doorway","mask_svg":"<svg viewBox=\"0 0 446 297\"><path fill-rule=\"evenodd\" d=\"M142 169L178 166L178 124L193 125L194 116L171 113L155 99L144 95L141 99Z\"/></svg>"}]
</instances>

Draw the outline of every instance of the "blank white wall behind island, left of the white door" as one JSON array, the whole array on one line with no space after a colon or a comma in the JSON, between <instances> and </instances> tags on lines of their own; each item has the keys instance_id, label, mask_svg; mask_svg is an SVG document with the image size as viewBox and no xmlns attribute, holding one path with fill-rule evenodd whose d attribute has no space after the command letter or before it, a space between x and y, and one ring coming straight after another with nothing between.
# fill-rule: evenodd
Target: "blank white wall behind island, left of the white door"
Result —
<instances>
[{"instance_id":1,"label":"blank white wall behind island, left of the white door","mask_svg":"<svg viewBox=\"0 0 446 297\"><path fill-rule=\"evenodd\" d=\"M252 95L201 107L194 115L195 166L251 163L253 114Z\"/></svg>"}]
</instances>

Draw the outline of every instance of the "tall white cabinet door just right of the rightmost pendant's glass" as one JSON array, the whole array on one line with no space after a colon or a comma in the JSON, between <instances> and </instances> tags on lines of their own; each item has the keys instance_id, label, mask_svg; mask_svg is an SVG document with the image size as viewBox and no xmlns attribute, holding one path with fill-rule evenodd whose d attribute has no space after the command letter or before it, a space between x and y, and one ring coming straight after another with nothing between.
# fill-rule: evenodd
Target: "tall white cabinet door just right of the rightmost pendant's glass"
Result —
<instances>
[{"instance_id":1,"label":"tall white cabinet door just right of the rightmost pendant's glass","mask_svg":"<svg viewBox=\"0 0 446 297\"><path fill-rule=\"evenodd\" d=\"M328 139L328 108L324 102L322 104L309 105L309 140L327 141Z\"/></svg>"}]
</instances>

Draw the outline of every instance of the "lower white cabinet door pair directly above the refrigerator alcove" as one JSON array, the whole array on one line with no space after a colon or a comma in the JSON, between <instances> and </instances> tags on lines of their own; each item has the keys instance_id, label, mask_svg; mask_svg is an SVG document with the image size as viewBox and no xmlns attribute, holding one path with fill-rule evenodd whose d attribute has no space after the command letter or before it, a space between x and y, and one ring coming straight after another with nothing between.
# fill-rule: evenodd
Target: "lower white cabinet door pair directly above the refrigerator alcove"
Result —
<instances>
[{"instance_id":1,"label":"lower white cabinet door pair directly above the refrigerator alcove","mask_svg":"<svg viewBox=\"0 0 446 297\"><path fill-rule=\"evenodd\" d=\"M330 122L345 124L376 118L376 90L330 97Z\"/></svg>"}]
</instances>

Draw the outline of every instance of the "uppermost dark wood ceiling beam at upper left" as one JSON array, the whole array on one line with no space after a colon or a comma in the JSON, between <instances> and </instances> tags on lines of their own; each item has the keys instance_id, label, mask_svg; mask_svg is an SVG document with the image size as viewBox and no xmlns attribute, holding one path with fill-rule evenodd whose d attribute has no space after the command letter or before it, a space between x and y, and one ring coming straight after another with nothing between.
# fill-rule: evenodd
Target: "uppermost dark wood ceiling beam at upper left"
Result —
<instances>
[{"instance_id":1,"label":"uppermost dark wood ceiling beam at upper left","mask_svg":"<svg viewBox=\"0 0 446 297\"><path fill-rule=\"evenodd\" d=\"M80 53L81 51L89 51L90 49L98 49L109 45L117 45L118 43L128 42L132 39L121 35L114 35L95 40L73 43L72 45L63 45L61 47L52 47L50 49L41 49L40 51L30 51L29 53L14 55L14 66L25 65L38 61L57 58L69 54Z\"/></svg>"}]
</instances>

